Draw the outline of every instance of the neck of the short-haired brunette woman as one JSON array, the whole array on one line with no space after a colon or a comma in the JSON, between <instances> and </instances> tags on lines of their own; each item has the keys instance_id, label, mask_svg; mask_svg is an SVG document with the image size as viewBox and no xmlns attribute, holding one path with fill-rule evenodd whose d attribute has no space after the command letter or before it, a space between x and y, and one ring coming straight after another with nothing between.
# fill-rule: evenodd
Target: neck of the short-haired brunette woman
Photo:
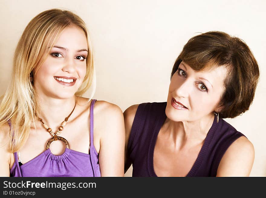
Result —
<instances>
[{"instance_id":1,"label":"neck of the short-haired brunette woman","mask_svg":"<svg viewBox=\"0 0 266 198\"><path fill-rule=\"evenodd\" d=\"M175 122L167 118L163 131L169 134L177 147L183 147L187 143L199 144L206 138L213 120L213 114L209 114L197 121Z\"/></svg>"}]
</instances>

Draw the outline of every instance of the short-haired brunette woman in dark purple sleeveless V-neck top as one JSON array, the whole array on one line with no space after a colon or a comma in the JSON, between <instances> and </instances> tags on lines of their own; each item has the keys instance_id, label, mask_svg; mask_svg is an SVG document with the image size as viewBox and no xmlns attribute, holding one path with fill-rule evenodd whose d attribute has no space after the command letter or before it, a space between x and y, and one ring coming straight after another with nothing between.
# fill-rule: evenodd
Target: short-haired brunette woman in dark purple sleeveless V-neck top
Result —
<instances>
[{"instance_id":1,"label":"short-haired brunette woman in dark purple sleeveless V-neck top","mask_svg":"<svg viewBox=\"0 0 266 198\"><path fill-rule=\"evenodd\" d=\"M125 171L133 176L249 176L252 143L223 118L249 109L259 78L246 43L206 32L183 47L171 73L167 102L124 112Z\"/></svg>"}]
</instances>

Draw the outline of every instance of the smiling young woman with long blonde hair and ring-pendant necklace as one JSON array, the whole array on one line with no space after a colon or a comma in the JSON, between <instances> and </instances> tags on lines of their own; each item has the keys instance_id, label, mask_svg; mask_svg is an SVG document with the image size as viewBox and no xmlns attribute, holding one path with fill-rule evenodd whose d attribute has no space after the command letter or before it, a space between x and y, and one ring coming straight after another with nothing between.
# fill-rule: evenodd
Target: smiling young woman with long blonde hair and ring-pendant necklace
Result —
<instances>
[{"instance_id":1,"label":"smiling young woman with long blonde hair and ring-pendant necklace","mask_svg":"<svg viewBox=\"0 0 266 198\"><path fill-rule=\"evenodd\" d=\"M123 176L121 109L81 97L92 85L85 23L70 11L34 17L15 50L0 105L0 175Z\"/></svg>"}]
</instances>

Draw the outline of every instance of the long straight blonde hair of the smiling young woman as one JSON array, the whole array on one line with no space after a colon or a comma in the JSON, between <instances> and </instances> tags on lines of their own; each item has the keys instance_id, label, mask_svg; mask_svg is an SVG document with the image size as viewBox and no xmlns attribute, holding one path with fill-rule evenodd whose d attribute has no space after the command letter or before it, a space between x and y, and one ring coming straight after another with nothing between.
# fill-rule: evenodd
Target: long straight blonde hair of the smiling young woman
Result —
<instances>
[{"instance_id":1,"label":"long straight blonde hair of the smiling young woman","mask_svg":"<svg viewBox=\"0 0 266 198\"><path fill-rule=\"evenodd\" d=\"M9 132L11 152L18 151L26 142L35 113L40 113L30 74L33 69L35 72L38 71L60 33L70 25L80 27L88 43L86 75L75 95L81 96L92 85L92 45L84 21L71 11L60 9L50 9L34 17L25 28L16 47L11 83L0 104L0 126L12 123Z\"/></svg>"}]
</instances>

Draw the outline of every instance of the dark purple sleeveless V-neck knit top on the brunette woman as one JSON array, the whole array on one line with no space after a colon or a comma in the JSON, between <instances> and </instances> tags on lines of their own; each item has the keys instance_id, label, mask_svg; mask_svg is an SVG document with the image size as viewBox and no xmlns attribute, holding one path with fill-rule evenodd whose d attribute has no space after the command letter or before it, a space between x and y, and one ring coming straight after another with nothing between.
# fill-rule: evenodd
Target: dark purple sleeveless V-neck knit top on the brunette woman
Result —
<instances>
[{"instance_id":1,"label":"dark purple sleeveless V-neck knit top on the brunette woman","mask_svg":"<svg viewBox=\"0 0 266 198\"><path fill-rule=\"evenodd\" d=\"M138 106L128 140L133 177L157 177L154 172L153 154L158 133L166 119L166 104L154 102ZM241 136L244 135L223 119L219 119L217 123L215 116L187 177L215 177L225 151Z\"/></svg>"}]
</instances>

